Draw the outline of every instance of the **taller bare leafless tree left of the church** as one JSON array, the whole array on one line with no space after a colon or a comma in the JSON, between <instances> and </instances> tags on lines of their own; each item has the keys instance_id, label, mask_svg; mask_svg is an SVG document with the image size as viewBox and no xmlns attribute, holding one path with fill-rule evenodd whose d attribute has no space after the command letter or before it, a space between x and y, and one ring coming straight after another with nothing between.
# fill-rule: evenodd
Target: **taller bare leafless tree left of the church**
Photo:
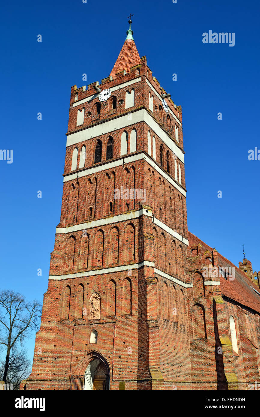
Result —
<instances>
[{"instance_id":1,"label":"taller bare leafless tree left of the church","mask_svg":"<svg viewBox=\"0 0 260 417\"><path fill-rule=\"evenodd\" d=\"M3 374L5 383L10 359L12 359L12 366L15 360L15 350L11 358L10 352L14 349L15 343L20 341L22 344L24 339L30 336L32 330L38 329L41 317L40 306L36 300L25 301L18 292L0 291L0 344L7 349Z\"/></svg>"}]
</instances>

